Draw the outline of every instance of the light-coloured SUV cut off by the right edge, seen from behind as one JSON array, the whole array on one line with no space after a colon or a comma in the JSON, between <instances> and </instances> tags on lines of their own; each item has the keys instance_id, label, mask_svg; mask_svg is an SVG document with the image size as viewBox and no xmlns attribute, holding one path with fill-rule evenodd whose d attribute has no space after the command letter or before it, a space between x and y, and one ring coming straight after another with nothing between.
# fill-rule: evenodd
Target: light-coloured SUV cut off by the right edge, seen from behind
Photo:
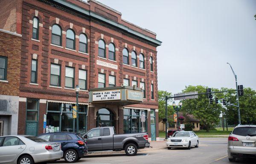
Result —
<instances>
[{"instance_id":1,"label":"light-coloured SUV cut off by the right edge, seen from behind","mask_svg":"<svg viewBox=\"0 0 256 164\"><path fill-rule=\"evenodd\" d=\"M256 158L256 125L238 125L228 137L229 161L236 158Z\"/></svg>"}]
</instances>

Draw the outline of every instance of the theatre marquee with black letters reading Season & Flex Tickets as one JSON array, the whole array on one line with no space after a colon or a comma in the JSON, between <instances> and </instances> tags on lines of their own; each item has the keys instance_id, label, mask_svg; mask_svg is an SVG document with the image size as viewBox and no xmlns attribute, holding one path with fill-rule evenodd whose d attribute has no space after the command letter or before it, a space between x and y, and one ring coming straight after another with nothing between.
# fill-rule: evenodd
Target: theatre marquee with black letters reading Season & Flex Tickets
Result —
<instances>
[{"instance_id":1,"label":"theatre marquee with black letters reading Season & Flex Tickets","mask_svg":"<svg viewBox=\"0 0 256 164\"><path fill-rule=\"evenodd\" d=\"M132 86L117 86L108 88L95 88L89 90L90 103L111 103L119 105L137 104L143 102L143 91Z\"/></svg>"}]
</instances>

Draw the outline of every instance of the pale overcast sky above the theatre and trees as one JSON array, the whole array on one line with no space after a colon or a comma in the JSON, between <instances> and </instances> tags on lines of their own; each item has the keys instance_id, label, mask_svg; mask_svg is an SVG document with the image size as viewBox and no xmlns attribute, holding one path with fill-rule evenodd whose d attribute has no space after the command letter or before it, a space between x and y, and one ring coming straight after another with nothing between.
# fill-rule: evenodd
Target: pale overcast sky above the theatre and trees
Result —
<instances>
[{"instance_id":1,"label":"pale overcast sky above the theatre and trees","mask_svg":"<svg viewBox=\"0 0 256 164\"><path fill-rule=\"evenodd\" d=\"M256 0L98 0L157 33L158 89L256 90Z\"/></svg>"}]
</instances>

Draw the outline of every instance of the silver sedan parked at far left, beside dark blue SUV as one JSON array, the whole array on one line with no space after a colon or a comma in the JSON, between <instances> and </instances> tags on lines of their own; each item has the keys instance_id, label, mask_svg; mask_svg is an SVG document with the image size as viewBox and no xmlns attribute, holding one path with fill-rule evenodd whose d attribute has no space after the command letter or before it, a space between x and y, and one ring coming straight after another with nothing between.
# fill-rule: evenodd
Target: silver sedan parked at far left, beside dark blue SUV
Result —
<instances>
[{"instance_id":1,"label":"silver sedan parked at far left, beside dark blue SUV","mask_svg":"<svg viewBox=\"0 0 256 164\"><path fill-rule=\"evenodd\" d=\"M34 164L63 157L61 143L26 135L0 137L0 164Z\"/></svg>"}]
</instances>

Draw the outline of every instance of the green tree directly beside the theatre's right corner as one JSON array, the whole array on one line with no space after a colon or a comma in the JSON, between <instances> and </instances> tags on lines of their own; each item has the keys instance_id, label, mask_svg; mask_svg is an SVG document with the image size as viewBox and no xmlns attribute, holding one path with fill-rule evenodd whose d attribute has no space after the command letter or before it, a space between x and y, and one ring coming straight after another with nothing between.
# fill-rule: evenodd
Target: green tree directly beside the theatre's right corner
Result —
<instances>
[{"instance_id":1,"label":"green tree directly beside the theatre's right corner","mask_svg":"<svg viewBox=\"0 0 256 164\"><path fill-rule=\"evenodd\" d=\"M167 91L162 91L162 90L159 90L158 91L158 118L159 120L163 119L163 118L166 118L166 115L165 115L165 106L166 106L166 102L165 102L165 97L171 97L172 96L172 93L170 92L167 92ZM167 101L168 102L171 102L171 99L169 99ZM172 118L170 117L171 115L174 114L174 109L172 108L172 105L167 105L167 115L169 116L167 119L168 121L172 121Z\"/></svg>"}]
</instances>

